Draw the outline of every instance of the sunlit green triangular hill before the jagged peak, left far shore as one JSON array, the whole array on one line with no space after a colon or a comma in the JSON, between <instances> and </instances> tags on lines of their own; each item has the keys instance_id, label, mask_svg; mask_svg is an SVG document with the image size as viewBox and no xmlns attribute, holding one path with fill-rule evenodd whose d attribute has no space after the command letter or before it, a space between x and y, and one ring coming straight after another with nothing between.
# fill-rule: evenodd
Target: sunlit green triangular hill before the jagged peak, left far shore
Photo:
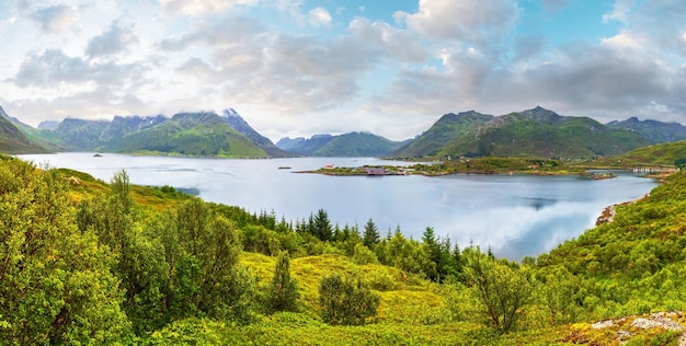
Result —
<instances>
[{"instance_id":1,"label":"sunlit green triangular hill before the jagged peak, left far shore","mask_svg":"<svg viewBox=\"0 0 686 346\"><path fill-rule=\"evenodd\" d=\"M156 152L193 157L266 158L267 154L215 113L180 113L168 122L114 138L106 152Z\"/></svg>"}]
</instances>

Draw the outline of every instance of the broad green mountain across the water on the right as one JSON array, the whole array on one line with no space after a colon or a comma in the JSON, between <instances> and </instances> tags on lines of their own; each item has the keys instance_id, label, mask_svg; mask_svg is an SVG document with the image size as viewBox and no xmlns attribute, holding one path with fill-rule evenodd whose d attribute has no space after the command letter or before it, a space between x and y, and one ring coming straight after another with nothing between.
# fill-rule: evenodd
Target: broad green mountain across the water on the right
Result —
<instances>
[{"instance_id":1,"label":"broad green mountain across the water on the right","mask_svg":"<svg viewBox=\"0 0 686 346\"><path fill-rule=\"evenodd\" d=\"M459 130L449 131L441 125L443 131L425 132L415 142L431 142L434 149L416 154L580 159L617 155L651 143L637 132L611 129L587 117L560 116L541 107L466 124Z\"/></svg>"}]
</instances>

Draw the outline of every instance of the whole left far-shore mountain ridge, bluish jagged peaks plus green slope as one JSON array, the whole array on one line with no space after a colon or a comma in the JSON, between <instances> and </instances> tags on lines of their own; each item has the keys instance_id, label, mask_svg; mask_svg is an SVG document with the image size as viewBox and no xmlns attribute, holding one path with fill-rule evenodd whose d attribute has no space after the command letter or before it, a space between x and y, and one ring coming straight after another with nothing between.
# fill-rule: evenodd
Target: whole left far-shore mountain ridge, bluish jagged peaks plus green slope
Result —
<instances>
[{"instance_id":1,"label":"whole left far-shore mountain ridge, bluish jagged peaks plus green slope","mask_svg":"<svg viewBox=\"0 0 686 346\"><path fill-rule=\"evenodd\" d=\"M266 158L268 154L211 112L158 116L115 116L112 122L66 118L35 136L62 150Z\"/></svg>"}]
</instances>

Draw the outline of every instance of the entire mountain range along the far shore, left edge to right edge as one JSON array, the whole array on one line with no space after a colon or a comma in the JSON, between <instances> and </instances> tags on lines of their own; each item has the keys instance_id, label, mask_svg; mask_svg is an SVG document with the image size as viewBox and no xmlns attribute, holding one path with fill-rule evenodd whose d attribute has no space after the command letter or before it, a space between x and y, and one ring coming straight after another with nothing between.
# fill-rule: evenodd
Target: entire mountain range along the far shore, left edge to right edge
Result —
<instances>
[{"instance_id":1,"label":"entire mountain range along the far shore, left edge to right edge","mask_svg":"<svg viewBox=\"0 0 686 346\"><path fill-rule=\"evenodd\" d=\"M414 139L392 141L356 131L288 137L274 145L232 108L178 113L171 118L115 116L112 120L66 118L33 128L0 107L0 152L101 151L218 158L282 157L611 157L652 143L686 139L677 123L639 120L601 124L535 107L493 116L475 111L443 115Z\"/></svg>"}]
</instances>

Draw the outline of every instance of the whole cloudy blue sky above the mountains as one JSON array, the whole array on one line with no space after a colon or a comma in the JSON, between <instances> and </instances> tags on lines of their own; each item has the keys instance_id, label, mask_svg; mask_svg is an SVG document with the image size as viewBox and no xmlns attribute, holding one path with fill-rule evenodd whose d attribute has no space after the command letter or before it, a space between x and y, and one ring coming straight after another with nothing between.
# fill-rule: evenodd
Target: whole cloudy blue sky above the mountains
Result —
<instances>
[{"instance_id":1,"label":"whole cloudy blue sky above the mountains","mask_svg":"<svg viewBox=\"0 0 686 346\"><path fill-rule=\"evenodd\" d=\"M273 141L536 106L686 124L684 0L0 0L23 123L232 107Z\"/></svg>"}]
</instances>

